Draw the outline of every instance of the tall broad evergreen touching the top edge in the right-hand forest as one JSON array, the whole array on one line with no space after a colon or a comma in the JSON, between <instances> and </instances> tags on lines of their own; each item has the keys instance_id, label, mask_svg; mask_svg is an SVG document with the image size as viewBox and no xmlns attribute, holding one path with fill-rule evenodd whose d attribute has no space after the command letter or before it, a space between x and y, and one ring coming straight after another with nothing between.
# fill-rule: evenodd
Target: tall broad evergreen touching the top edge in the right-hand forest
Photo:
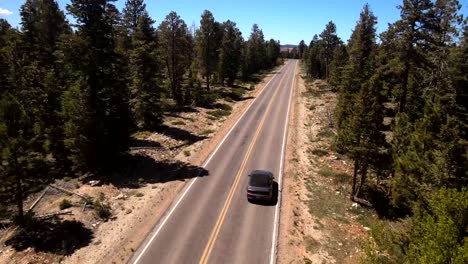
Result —
<instances>
[{"instance_id":1,"label":"tall broad evergreen touching the top edge in the right-hand forest","mask_svg":"<svg viewBox=\"0 0 468 264\"><path fill-rule=\"evenodd\" d=\"M452 6L457 1L444 1ZM441 41L442 32L449 33L448 27L452 26L447 19L447 13L455 11L445 8L430 0L405 0L399 7L401 19L391 24L389 30L383 34L383 42L393 42L388 54L393 58L391 68L397 85L393 94L398 98L398 112L407 113L410 121L421 117L424 109L424 90L430 86L431 68L436 67L430 59L430 54L438 47L444 46ZM457 4L455 4L457 5ZM453 6L452 6L453 7ZM445 13L445 15L443 15ZM450 16L450 15L449 15Z\"/></svg>"}]
</instances>

